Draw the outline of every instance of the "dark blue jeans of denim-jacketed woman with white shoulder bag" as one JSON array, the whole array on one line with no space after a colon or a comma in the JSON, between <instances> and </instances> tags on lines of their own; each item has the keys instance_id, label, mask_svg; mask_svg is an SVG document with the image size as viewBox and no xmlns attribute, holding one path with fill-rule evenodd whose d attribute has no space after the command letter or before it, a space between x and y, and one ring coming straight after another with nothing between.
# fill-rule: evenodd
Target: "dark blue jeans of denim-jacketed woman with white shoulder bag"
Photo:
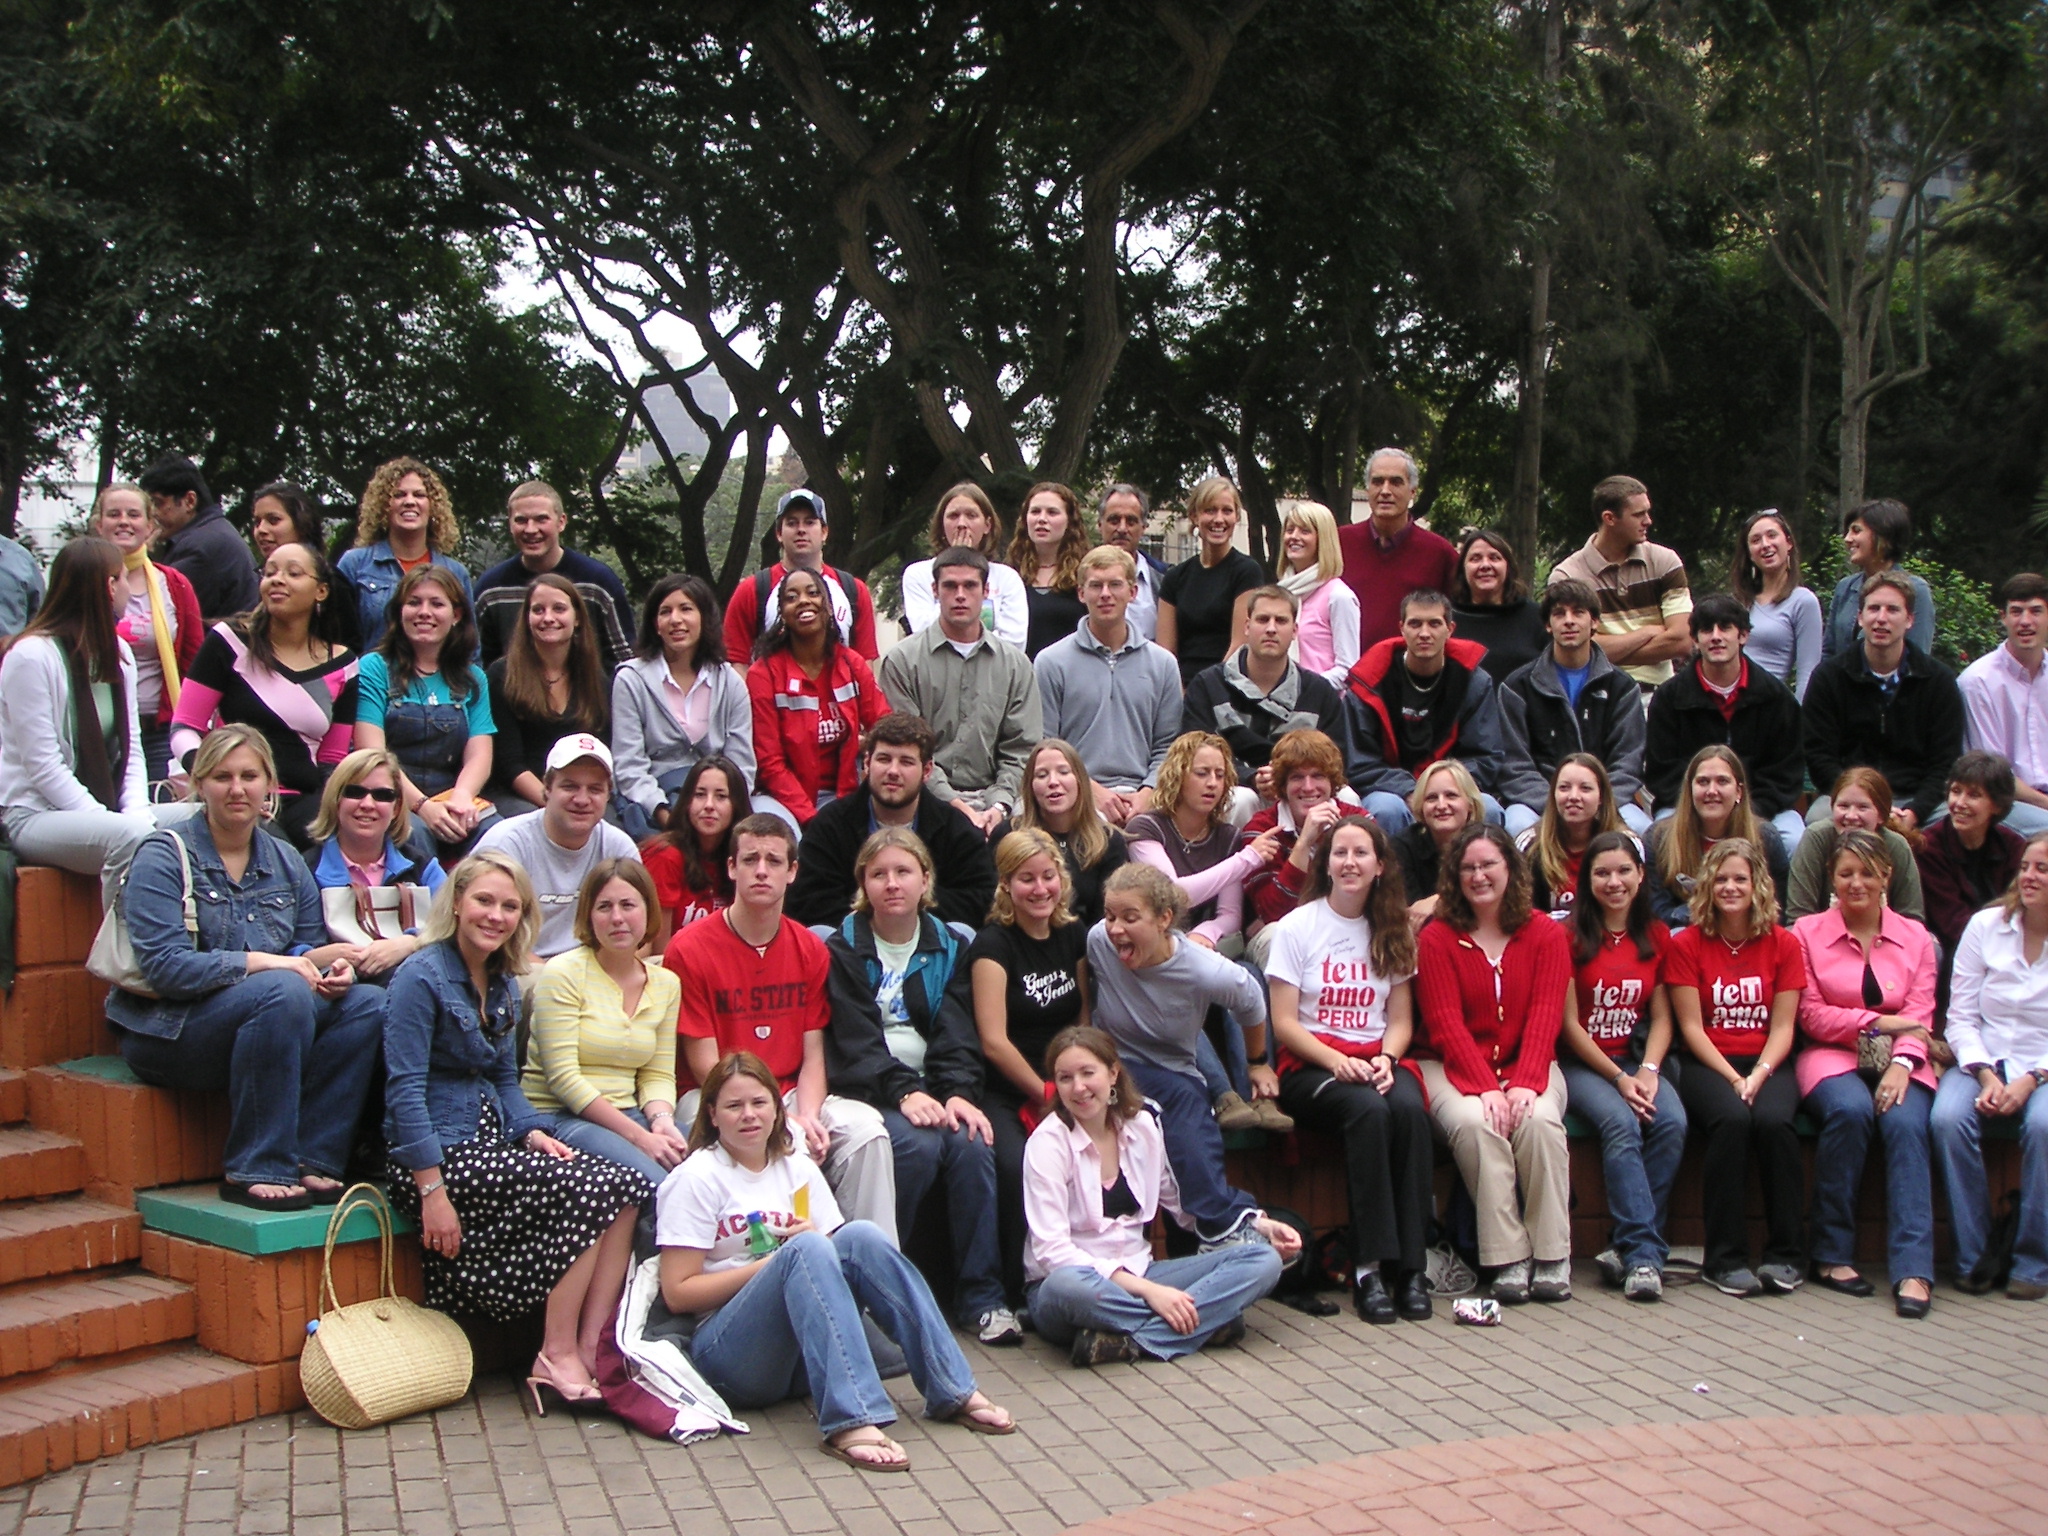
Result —
<instances>
[{"instance_id":1,"label":"dark blue jeans of denim-jacketed woman with white shoulder bag","mask_svg":"<svg viewBox=\"0 0 2048 1536\"><path fill-rule=\"evenodd\" d=\"M121 1032L152 1087L227 1090L233 1184L340 1178L383 1047L383 987L319 997L291 971L258 971L193 1004L178 1038Z\"/></svg>"}]
</instances>

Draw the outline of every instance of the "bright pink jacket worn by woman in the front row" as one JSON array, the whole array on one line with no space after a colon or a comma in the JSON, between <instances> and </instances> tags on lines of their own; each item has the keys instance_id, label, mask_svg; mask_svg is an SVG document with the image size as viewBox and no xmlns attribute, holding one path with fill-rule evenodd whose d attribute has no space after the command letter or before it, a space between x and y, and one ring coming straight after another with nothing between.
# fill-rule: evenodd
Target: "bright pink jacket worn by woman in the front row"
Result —
<instances>
[{"instance_id":1,"label":"bright pink jacket worn by woman in the front row","mask_svg":"<svg viewBox=\"0 0 2048 1536\"><path fill-rule=\"evenodd\" d=\"M1806 991L1798 999L1800 1098L1817 1083L1855 1071L1855 1036L1872 1028L1880 1016L1919 1020L1933 1026L1933 983L1939 969L1927 930L1901 911L1884 909L1878 942L1870 950L1870 971L1884 991L1878 1008L1864 1008L1864 946L1849 938L1841 911L1829 907L1792 924L1806 961ZM1927 1047L1915 1038L1892 1036L1892 1055L1913 1063L1913 1081L1935 1085L1927 1063Z\"/></svg>"}]
</instances>

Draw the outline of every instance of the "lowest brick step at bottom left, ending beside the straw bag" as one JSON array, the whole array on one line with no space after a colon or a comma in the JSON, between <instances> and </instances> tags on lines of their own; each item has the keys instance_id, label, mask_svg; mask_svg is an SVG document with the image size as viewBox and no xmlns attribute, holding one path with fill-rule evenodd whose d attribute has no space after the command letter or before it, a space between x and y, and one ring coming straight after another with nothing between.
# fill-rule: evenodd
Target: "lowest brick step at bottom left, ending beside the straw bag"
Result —
<instances>
[{"instance_id":1,"label":"lowest brick step at bottom left, ending beside the straw bag","mask_svg":"<svg viewBox=\"0 0 2048 1536\"><path fill-rule=\"evenodd\" d=\"M0 1393L0 1487L303 1401L295 1360L246 1366L193 1348L143 1350Z\"/></svg>"}]
</instances>

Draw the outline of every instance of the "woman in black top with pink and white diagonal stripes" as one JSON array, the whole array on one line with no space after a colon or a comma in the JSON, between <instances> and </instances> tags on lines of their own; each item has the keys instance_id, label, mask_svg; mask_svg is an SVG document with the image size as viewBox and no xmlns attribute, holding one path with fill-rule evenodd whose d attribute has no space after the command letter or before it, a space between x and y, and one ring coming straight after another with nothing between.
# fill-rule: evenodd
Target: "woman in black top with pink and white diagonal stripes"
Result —
<instances>
[{"instance_id":1,"label":"woman in black top with pink and white diagonal stripes","mask_svg":"<svg viewBox=\"0 0 2048 1536\"><path fill-rule=\"evenodd\" d=\"M215 725L254 725L279 770L276 829L313 846L313 817L356 727L358 662L328 639L328 557L279 545L262 567L262 602L207 631L170 721L176 772Z\"/></svg>"}]
</instances>

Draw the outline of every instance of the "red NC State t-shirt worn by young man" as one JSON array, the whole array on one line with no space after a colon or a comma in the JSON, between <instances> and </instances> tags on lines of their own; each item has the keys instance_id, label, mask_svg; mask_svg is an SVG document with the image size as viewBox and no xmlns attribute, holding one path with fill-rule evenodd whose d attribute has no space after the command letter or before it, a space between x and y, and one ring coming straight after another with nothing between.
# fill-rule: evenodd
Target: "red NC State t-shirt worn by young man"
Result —
<instances>
[{"instance_id":1,"label":"red NC State t-shirt worn by young man","mask_svg":"<svg viewBox=\"0 0 2048 1536\"><path fill-rule=\"evenodd\" d=\"M721 1057L752 1051L782 1092L797 1085L803 1036L831 1022L825 995L831 961L817 934L784 918L768 952L756 954L717 913L676 934L662 965L682 981L676 1018L682 1038L717 1040ZM680 1055L676 1077L696 1085Z\"/></svg>"}]
</instances>

